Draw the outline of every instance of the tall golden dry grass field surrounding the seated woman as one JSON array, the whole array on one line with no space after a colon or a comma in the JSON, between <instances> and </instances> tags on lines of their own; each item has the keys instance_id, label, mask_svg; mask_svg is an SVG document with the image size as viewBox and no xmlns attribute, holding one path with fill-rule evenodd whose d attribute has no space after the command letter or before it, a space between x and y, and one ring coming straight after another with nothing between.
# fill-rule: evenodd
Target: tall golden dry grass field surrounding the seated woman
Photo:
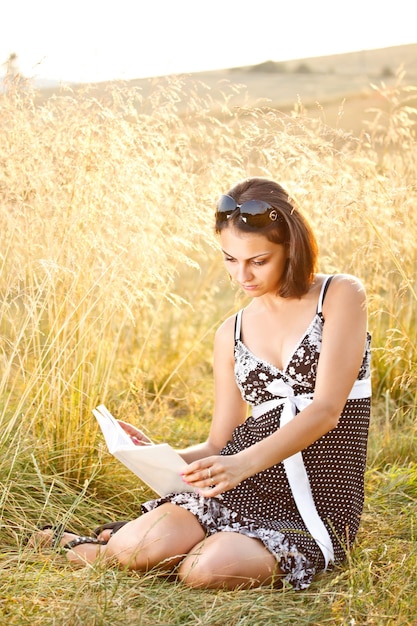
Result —
<instances>
[{"instance_id":1,"label":"tall golden dry grass field surrounding the seated woman","mask_svg":"<svg viewBox=\"0 0 417 626\"><path fill-rule=\"evenodd\" d=\"M417 623L417 87L381 86L360 133L213 101L181 77L0 98L1 623ZM152 496L107 453L105 403L155 441L208 432L216 327L242 303L213 235L216 198L282 183L322 272L366 285L373 416L362 527L306 592L192 591L158 573L73 569L29 549L43 523L87 531Z\"/></svg>"}]
</instances>

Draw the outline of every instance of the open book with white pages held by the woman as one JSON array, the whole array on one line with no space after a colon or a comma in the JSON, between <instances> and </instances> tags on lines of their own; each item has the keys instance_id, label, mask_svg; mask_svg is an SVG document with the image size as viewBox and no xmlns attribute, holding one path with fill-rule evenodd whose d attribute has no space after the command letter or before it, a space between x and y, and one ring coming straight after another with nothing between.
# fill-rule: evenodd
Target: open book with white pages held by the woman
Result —
<instances>
[{"instance_id":1,"label":"open book with white pages held by the woman","mask_svg":"<svg viewBox=\"0 0 417 626\"><path fill-rule=\"evenodd\" d=\"M103 404L93 409L93 414L103 432L109 452L158 495L194 491L180 476L186 462L169 444L136 446Z\"/></svg>"}]
</instances>

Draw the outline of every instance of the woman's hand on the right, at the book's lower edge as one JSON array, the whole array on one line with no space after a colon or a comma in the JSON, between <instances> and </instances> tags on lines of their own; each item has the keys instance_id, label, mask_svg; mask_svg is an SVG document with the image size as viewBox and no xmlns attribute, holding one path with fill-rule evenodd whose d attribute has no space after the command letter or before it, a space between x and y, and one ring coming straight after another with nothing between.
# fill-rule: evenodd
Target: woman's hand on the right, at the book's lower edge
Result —
<instances>
[{"instance_id":1,"label":"woman's hand on the right, at the book's lower edge","mask_svg":"<svg viewBox=\"0 0 417 626\"><path fill-rule=\"evenodd\" d=\"M181 475L187 485L195 487L205 498L218 496L247 478L239 454L208 456L194 461L187 465Z\"/></svg>"}]
</instances>

